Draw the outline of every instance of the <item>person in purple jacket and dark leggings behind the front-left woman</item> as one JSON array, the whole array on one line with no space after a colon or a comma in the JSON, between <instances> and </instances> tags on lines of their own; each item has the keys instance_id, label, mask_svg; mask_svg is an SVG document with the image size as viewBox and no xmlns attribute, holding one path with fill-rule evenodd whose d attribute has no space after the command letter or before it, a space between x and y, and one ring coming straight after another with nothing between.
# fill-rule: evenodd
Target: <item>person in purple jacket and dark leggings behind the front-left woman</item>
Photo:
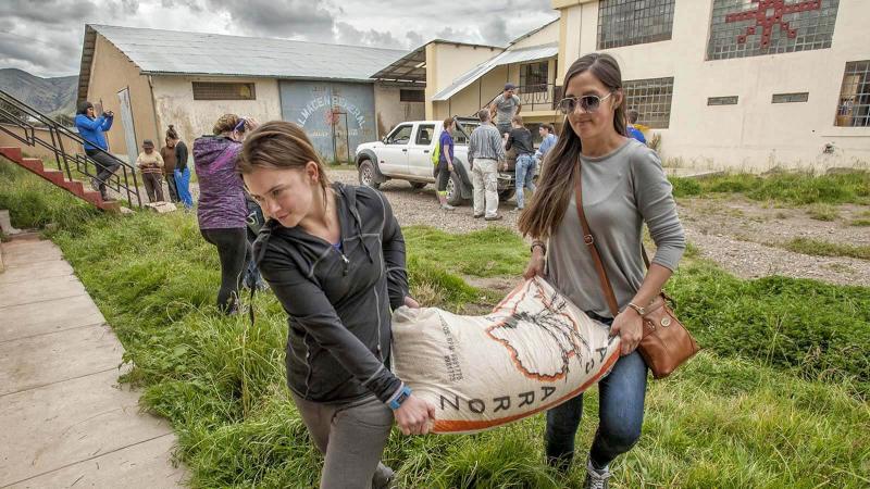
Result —
<instances>
[{"instance_id":1,"label":"person in purple jacket and dark leggings behind the front-left woman","mask_svg":"<svg viewBox=\"0 0 870 489\"><path fill-rule=\"evenodd\" d=\"M217 308L225 314L238 312L238 290L245 264L251 258L246 234L248 206L236 161L246 133L256 126L251 118L224 114L214 123L213 135L194 141L194 166L199 178L199 231L206 241L217 247L221 260Z\"/></svg>"}]
</instances>

